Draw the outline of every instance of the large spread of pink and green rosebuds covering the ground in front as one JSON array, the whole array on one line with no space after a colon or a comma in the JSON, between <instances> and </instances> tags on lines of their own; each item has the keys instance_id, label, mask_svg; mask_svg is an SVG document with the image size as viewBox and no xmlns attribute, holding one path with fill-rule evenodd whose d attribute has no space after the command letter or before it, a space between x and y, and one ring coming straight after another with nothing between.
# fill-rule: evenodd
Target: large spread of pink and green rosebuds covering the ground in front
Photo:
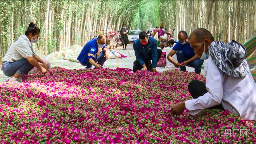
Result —
<instances>
[{"instance_id":1,"label":"large spread of pink and green rosebuds covering the ground in front","mask_svg":"<svg viewBox=\"0 0 256 144\"><path fill-rule=\"evenodd\" d=\"M203 76L130 71L54 68L0 84L0 143L256 142L255 122L229 111L170 114Z\"/></svg>"}]
</instances>

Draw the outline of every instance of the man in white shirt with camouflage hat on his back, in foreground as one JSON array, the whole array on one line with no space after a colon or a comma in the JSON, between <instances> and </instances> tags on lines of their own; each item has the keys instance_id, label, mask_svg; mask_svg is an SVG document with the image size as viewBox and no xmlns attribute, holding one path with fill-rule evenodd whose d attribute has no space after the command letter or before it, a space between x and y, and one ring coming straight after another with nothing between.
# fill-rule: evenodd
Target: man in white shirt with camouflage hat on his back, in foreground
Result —
<instances>
[{"instance_id":1,"label":"man in white shirt with camouflage hat on his back, in foreground","mask_svg":"<svg viewBox=\"0 0 256 144\"><path fill-rule=\"evenodd\" d=\"M188 88L194 99L176 103L171 113L185 108L195 115L206 108L228 110L246 120L256 120L256 84L244 59L246 49L236 41L214 41L203 28L196 29L189 43L205 64L206 84L193 80Z\"/></svg>"}]
</instances>

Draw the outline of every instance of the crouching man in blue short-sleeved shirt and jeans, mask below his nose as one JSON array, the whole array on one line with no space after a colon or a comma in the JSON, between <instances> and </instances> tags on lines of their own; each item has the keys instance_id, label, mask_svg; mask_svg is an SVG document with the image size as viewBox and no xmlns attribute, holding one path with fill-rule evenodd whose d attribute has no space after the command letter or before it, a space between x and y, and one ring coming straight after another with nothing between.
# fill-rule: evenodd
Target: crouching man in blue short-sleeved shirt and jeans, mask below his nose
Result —
<instances>
[{"instance_id":1,"label":"crouching man in blue short-sleeved shirt and jeans, mask below his nose","mask_svg":"<svg viewBox=\"0 0 256 144\"><path fill-rule=\"evenodd\" d=\"M185 31L180 31L178 34L178 43L173 46L173 49L168 54L167 59L175 65L175 67L180 67L183 72L186 71L186 65L195 68L195 73L201 73L201 67L204 60L199 58L198 54L195 54L194 49L190 47L188 35ZM172 56L177 55L177 60L173 60Z\"/></svg>"}]
</instances>

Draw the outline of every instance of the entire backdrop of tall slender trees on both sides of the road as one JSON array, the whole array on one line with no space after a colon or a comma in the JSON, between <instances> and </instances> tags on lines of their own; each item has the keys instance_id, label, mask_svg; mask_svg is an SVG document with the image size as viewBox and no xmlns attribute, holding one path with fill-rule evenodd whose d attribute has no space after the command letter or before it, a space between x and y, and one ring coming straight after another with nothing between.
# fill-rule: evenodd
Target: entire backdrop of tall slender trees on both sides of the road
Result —
<instances>
[{"instance_id":1,"label":"entire backdrop of tall slender trees on both sides of the road","mask_svg":"<svg viewBox=\"0 0 256 144\"><path fill-rule=\"evenodd\" d=\"M28 24L41 29L36 50L45 55L70 45L85 45L93 32L164 24L190 34L204 27L220 41L244 43L255 26L255 0L0 0L0 58Z\"/></svg>"}]
</instances>

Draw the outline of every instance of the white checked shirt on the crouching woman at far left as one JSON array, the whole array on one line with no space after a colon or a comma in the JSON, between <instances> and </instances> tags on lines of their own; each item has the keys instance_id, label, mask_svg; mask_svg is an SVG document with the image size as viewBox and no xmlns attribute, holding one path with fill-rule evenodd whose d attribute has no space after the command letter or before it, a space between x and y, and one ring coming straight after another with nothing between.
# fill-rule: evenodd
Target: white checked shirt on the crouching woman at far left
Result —
<instances>
[{"instance_id":1,"label":"white checked shirt on the crouching woman at far left","mask_svg":"<svg viewBox=\"0 0 256 144\"><path fill-rule=\"evenodd\" d=\"M3 57L3 62L15 62L22 58L33 57L35 54L35 49L31 45L28 37L24 34L10 46Z\"/></svg>"}]
</instances>

